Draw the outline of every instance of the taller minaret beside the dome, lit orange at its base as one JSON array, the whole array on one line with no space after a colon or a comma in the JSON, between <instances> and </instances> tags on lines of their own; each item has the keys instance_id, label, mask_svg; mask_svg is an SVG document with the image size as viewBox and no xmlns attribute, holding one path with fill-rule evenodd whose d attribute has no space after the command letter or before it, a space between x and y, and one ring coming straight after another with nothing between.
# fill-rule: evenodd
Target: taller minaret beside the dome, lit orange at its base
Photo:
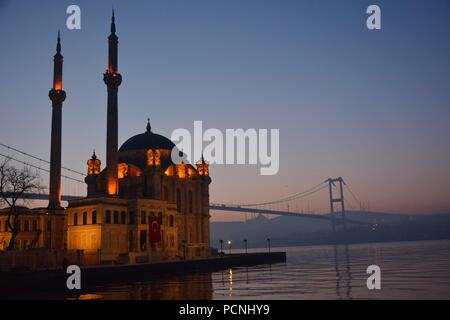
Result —
<instances>
[{"instance_id":1,"label":"taller minaret beside the dome, lit orange at its base","mask_svg":"<svg viewBox=\"0 0 450 320\"><path fill-rule=\"evenodd\" d=\"M118 141L118 110L117 92L122 83L122 76L117 69L116 24L114 10L111 18L111 34L108 37L108 69L103 74L103 81L108 88L108 111L106 124L106 194L118 194L117 179L117 141Z\"/></svg>"}]
</instances>

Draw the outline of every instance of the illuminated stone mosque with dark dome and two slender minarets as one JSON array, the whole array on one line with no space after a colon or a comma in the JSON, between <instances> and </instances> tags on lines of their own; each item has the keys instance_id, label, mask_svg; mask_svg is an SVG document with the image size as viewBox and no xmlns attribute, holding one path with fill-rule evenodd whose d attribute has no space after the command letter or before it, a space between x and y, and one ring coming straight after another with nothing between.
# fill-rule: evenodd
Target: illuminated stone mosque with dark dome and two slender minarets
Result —
<instances>
[{"instance_id":1,"label":"illuminated stone mosque with dark dome and two slender minarets","mask_svg":"<svg viewBox=\"0 0 450 320\"><path fill-rule=\"evenodd\" d=\"M63 56L58 34L54 56L49 204L20 208L18 249L47 248L83 264L143 263L210 255L208 162L175 164L175 147L145 131L118 147L118 36L114 12L108 37L106 165L95 152L87 161L87 196L61 205ZM176 149L175 149L176 150ZM0 210L0 250L11 232Z\"/></svg>"}]
</instances>

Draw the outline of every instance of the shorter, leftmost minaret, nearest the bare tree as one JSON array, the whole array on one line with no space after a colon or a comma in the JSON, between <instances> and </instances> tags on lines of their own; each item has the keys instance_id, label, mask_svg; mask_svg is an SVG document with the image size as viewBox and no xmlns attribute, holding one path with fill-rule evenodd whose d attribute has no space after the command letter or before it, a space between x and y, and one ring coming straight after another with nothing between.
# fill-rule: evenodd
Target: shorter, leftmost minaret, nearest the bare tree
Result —
<instances>
[{"instance_id":1,"label":"shorter, leftmost minaret, nearest the bare tree","mask_svg":"<svg viewBox=\"0 0 450 320\"><path fill-rule=\"evenodd\" d=\"M62 89L61 39L58 31L58 43L56 54L53 58L53 88L48 96L52 100L52 137L50 150L50 193L48 208L52 210L61 207L61 128L62 128L62 103L66 99L66 92Z\"/></svg>"}]
</instances>

